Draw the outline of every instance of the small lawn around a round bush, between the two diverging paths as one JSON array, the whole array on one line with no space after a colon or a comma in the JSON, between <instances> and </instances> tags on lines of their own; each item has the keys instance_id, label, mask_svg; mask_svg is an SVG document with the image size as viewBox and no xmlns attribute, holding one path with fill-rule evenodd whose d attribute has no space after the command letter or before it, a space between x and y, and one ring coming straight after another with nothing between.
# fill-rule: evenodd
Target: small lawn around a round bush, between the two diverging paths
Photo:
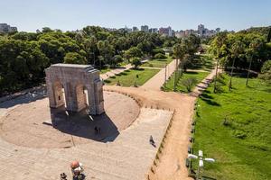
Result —
<instances>
[{"instance_id":1,"label":"small lawn around a round bush, between the two diverging paths","mask_svg":"<svg viewBox=\"0 0 271 180\"><path fill-rule=\"evenodd\" d=\"M185 86L182 85L183 79L196 78L197 84L198 84L204 79L205 76L208 76L208 75L209 75L209 72L185 72L182 74L182 77L179 79L178 84L176 85L176 89L178 92L188 93ZM193 85L193 87L194 86L195 85ZM164 91L173 91L173 87L174 87L174 74L171 76L171 78L164 85Z\"/></svg>"}]
</instances>

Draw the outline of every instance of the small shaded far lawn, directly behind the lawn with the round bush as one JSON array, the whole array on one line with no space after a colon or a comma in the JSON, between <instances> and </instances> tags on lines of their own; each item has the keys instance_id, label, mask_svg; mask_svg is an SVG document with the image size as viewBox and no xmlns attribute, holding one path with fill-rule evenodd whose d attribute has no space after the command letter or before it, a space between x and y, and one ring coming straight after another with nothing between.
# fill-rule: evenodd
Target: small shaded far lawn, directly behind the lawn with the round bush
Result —
<instances>
[{"instance_id":1,"label":"small shaded far lawn, directly behind the lawn with the round bush","mask_svg":"<svg viewBox=\"0 0 271 180\"><path fill-rule=\"evenodd\" d=\"M210 71L214 68L213 58L210 58L208 54L195 55L187 68Z\"/></svg>"}]
</instances>

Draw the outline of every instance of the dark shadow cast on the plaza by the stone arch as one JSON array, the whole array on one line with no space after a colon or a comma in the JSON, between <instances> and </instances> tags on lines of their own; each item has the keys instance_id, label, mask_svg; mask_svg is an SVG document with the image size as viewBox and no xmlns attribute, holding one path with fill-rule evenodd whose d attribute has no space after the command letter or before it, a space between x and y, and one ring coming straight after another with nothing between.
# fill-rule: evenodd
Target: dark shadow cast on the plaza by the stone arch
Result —
<instances>
[{"instance_id":1,"label":"dark shadow cast on the plaza by the stone arch","mask_svg":"<svg viewBox=\"0 0 271 180\"><path fill-rule=\"evenodd\" d=\"M99 142L114 141L119 135L114 121L106 112L89 115L87 109L80 112L68 112L64 106L51 108L51 125L63 133Z\"/></svg>"}]
</instances>

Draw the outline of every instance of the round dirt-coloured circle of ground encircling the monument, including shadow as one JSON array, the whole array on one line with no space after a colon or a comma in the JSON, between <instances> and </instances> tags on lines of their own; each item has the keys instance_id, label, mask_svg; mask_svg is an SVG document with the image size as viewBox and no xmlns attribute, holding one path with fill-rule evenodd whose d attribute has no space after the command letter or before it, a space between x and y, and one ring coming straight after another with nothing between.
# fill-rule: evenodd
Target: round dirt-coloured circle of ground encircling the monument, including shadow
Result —
<instances>
[{"instance_id":1,"label":"round dirt-coloured circle of ground encircling the monument, including shadow","mask_svg":"<svg viewBox=\"0 0 271 180\"><path fill-rule=\"evenodd\" d=\"M23 103L0 119L0 136L18 146L32 148L70 148L91 139L115 138L135 121L140 108L124 94L104 92L104 98L106 112L99 116L50 109L48 98Z\"/></svg>"}]
</instances>

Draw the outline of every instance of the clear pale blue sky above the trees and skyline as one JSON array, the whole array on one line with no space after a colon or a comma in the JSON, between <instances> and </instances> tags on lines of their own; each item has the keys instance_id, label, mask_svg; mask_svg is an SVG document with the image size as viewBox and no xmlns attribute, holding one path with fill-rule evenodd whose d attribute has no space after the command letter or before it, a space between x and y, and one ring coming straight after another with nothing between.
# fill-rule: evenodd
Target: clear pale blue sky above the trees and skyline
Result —
<instances>
[{"instance_id":1,"label":"clear pale blue sky above the trees and skyline","mask_svg":"<svg viewBox=\"0 0 271 180\"><path fill-rule=\"evenodd\" d=\"M0 7L0 23L19 31L142 24L185 30L200 23L238 31L271 25L271 0L0 0Z\"/></svg>"}]
</instances>

